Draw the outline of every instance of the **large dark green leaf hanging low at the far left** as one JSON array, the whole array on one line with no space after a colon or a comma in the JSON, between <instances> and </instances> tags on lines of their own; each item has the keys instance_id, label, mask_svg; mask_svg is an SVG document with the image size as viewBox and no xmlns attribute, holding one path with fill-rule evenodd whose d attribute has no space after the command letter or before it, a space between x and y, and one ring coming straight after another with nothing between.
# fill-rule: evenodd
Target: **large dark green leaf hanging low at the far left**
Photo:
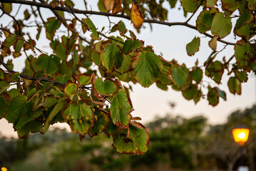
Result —
<instances>
[{"instance_id":1,"label":"large dark green leaf hanging low at the far left","mask_svg":"<svg viewBox=\"0 0 256 171\"><path fill-rule=\"evenodd\" d=\"M6 120L8 120L9 123L14 123L16 130L19 130L19 128L29 121L26 108L26 96L19 95L10 101L7 107Z\"/></svg>"}]
</instances>

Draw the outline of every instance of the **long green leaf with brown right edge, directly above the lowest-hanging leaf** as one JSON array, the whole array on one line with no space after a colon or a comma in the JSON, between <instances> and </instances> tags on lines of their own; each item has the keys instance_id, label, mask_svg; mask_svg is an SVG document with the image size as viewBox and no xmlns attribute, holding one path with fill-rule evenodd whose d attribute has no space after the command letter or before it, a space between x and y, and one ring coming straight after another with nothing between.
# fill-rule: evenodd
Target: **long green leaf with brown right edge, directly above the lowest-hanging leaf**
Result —
<instances>
[{"instance_id":1,"label":"long green leaf with brown right edge, directly above the lowest-hanging leaf","mask_svg":"<svg viewBox=\"0 0 256 171\"><path fill-rule=\"evenodd\" d=\"M127 126L130 122L130 104L125 90L118 90L111 102L111 118L115 125Z\"/></svg>"}]
</instances>

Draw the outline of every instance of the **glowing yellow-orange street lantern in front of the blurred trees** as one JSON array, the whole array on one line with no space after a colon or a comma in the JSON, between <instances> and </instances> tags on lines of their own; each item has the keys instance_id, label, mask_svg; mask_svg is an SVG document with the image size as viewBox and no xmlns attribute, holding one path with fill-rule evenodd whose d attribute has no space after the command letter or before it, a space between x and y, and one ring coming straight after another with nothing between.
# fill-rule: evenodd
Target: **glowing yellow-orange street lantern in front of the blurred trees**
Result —
<instances>
[{"instance_id":1,"label":"glowing yellow-orange street lantern in front of the blurred trees","mask_svg":"<svg viewBox=\"0 0 256 171\"><path fill-rule=\"evenodd\" d=\"M247 128L235 128L232 130L232 134L235 142L239 143L239 145L244 145L247 142L249 137L250 130Z\"/></svg>"}]
</instances>

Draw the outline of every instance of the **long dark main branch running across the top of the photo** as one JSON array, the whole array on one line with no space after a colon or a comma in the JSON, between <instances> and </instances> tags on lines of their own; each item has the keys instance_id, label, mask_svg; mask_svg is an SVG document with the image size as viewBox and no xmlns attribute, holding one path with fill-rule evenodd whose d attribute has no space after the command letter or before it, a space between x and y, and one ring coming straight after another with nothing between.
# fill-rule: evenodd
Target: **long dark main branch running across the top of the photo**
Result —
<instances>
[{"instance_id":1,"label":"long dark main branch running across the top of the photo","mask_svg":"<svg viewBox=\"0 0 256 171\"><path fill-rule=\"evenodd\" d=\"M123 14L114 14L112 15L111 13L108 12L101 12L101 11L86 11L86 10L80 10L80 9L74 9L74 8L68 8L68 7L62 7L62 6L55 6L53 8L50 4L46 3L39 3L35 1L26 1L26 0L0 0L2 3L14 3L14 4L26 4L30 6L38 6L46 9L51 9L51 10L58 10L58 11L66 11L71 14L91 14L91 15L100 15L100 16L113 16L113 17L119 17L123 19L128 19L130 20L130 16L126 16ZM186 26L188 28L192 28L194 30L197 30L196 26L190 25L186 22L166 22L166 21L158 21L158 20L153 20L153 19L145 19L144 23L152 23L152 24L161 24L165 26ZM208 36L210 38L213 38L212 35L209 33L203 33L205 36ZM222 39L218 38L217 41L220 41L222 43L225 43L227 45L232 45L235 46L235 43L229 42L229 41L223 41Z\"/></svg>"}]
</instances>

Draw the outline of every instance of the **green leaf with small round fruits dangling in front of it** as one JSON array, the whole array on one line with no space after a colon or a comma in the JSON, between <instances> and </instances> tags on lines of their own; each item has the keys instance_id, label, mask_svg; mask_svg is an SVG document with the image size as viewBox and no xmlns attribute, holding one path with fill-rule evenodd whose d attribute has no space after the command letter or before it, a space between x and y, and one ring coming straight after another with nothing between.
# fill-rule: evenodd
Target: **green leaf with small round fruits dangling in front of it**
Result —
<instances>
[{"instance_id":1,"label":"green leaf with small round fruits dangling in front of it","mask_svg":"<svg viewBox=\"0 0 256 171\"><path fill-rule=\"evenodd\" d=\"M68 125L74 133L86 135L93 126L93 113L86 103L69 103L63 110L63 117L68 120Z\"/></svg>"}]
</instances>

